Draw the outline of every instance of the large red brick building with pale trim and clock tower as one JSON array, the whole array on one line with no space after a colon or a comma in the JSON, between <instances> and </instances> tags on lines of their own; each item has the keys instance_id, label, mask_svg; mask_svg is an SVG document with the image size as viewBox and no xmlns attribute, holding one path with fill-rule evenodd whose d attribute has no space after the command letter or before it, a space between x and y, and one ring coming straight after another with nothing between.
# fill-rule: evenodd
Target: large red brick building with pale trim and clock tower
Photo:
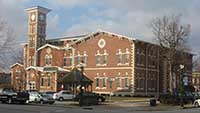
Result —
<instances>
[{"instance_id":1,"label":"large red brick building with pale trim and clock tower","mask_svg":"<svg viewBox=\"0 0 200 113\"><path fill-rule=\"evenodd\" d=\"M107 31L87 35L46 39L49 9L37 6L28 12L28 43L24 63L11 66L16 89L58 91L58 82L74 67L84 66L97 93L123 92L134 95L166 93L169 77L159 46ZM187 57L191 81L192 55Z\"/></svg>"}]
</instances>

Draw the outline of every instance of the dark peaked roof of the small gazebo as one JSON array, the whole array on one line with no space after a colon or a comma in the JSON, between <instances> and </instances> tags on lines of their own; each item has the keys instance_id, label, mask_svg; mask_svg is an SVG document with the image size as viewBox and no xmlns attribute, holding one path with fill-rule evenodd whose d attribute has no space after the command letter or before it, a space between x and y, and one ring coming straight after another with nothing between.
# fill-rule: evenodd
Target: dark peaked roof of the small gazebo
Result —
<instances>
[{"instance_id":1,"label":"dark peaked roof of the small gazebo","mask_svg":"<svg viewBox=\"0 0 200 113\"><path fill-rule=\"evenodd\" d=\"M69 73L67 73L63 79L62 83L76 83L77 85L90 85L93 83L87 76L85 76L80 70L77 68L72 69Z\"/></svg>"}]
</instances>

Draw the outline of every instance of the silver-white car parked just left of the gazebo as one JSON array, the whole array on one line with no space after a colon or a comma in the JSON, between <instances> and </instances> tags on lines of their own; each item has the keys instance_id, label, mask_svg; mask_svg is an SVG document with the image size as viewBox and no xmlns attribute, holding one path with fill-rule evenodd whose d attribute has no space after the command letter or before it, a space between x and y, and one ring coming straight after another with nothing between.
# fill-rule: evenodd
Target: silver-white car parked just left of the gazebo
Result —
<instances>
[{"instance_id":1,"label":"silver-white car parked just left of the gazebo","mask_svg":"<svg viewBox=\"0 0 200 113\"><path fill-rule=\"evenodd\" d=\"M59 91L58 93L54 93L53 94L53 99L55 100L59 100L59 101L63 101L63 100L73 100L73 98L75 97L74 94L72 94L71 91Z\"/></svg>"}]
</instances>

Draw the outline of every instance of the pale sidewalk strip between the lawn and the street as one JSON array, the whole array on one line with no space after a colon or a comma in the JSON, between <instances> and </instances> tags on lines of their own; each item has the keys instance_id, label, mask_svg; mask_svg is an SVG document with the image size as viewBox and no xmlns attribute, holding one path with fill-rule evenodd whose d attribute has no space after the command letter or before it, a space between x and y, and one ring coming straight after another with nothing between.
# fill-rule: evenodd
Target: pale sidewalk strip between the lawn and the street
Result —
<instances>
[{"instance_id":1,"label":"pale sidewalk strip between the lawn and the street","mask_svg":"<svg viewBox=\"0 0 200 113\"><path fill-rule=\"evenodd\" d=\"M64 108L74 108L74 109L95 109L95 110L125 110L125 111L177 111L183 110L180 106L174 105L164 105L157 102L157 106L150 106L149 100L124 100L124 101L113 101L113 102L103 102L99 105L83 106L79 107L78 102L65 101L56 102L54 106L64 107ZM194 108L192 104L185 105L184 109Z\"/></svg>"}]
</instances>

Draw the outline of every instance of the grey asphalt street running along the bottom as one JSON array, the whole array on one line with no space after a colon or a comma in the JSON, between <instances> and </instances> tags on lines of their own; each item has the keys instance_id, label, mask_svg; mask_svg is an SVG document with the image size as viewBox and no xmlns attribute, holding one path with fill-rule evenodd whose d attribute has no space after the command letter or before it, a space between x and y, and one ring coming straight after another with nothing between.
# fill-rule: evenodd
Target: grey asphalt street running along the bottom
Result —
<instances>
[{"instance_id":1,"label":"grey asphalt street running along the bottom","mask_svg":"<svg viewBox=\"0 0 200 113\"><path fill-rule=\"evenodd\" d=\"M108 105L97 105L88 107L67 105L18 105L0 104L0 113L199 113L200 108L179 109L168 111L145 110L135 108L117 108Z\"/></svg>"}]
</instances>

